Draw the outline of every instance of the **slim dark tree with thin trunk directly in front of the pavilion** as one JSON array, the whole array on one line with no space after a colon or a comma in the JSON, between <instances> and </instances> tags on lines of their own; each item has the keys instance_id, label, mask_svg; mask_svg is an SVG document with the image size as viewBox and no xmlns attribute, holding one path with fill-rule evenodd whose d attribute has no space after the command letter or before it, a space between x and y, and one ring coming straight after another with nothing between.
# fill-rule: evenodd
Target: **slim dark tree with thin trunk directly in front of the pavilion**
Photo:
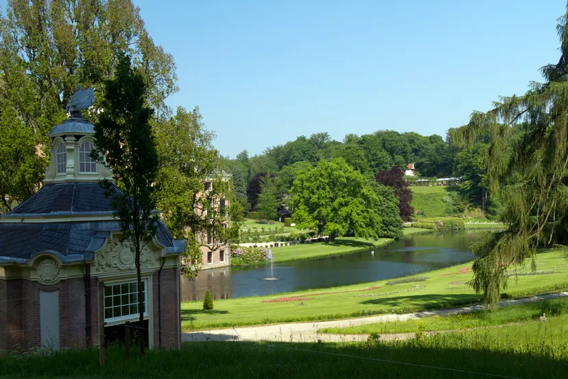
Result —
<instances>
[{"instance_id":1,"label":"slim dark tree with thin trunk directly in front of the pavilion","mask_svg":"<svg viewBox=\"0 0 568 379\"><path fill-rule=\"evenodd\" d=\"M102 183L120 225L120 240L127 242L134 254L140 328L144 327L145 306L140 255L156 236L158 218L153 212L158 153L150 126L154 111L146 105L146 91L144 77L132 68L130 57L121 57L115 78L105 82L103 111L95 123L96 146L92 152L93 158L113 170L121 187L116 191L108 180ZM144 354L144 333L140 336L140 352Z\"/></svg>"}]
</instances>

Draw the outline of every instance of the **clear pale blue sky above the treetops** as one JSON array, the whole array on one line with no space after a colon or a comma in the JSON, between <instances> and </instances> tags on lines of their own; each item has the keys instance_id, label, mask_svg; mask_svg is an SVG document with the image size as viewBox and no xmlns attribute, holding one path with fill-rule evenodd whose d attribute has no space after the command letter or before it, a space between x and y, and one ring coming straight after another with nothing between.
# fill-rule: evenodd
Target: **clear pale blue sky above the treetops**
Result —
<instances>
[{"instance_id":1,"label":"clear pale blue sky above the treetops","mask_svg":"<svg viewBox=\"0 0 568 379\"><path fill-rule=\"evenodd\" d=\"M134 0L173 54L215 147L259 154L300 135L438 134L526 91L557 62L565 0Z\"/></svg>"}]
</instances>

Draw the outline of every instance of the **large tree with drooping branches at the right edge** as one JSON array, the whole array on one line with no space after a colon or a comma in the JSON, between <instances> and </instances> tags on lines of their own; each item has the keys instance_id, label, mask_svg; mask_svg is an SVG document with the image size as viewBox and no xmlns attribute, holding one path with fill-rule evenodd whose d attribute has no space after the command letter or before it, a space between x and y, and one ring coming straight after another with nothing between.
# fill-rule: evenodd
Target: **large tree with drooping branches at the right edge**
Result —
<instances>
[{"instance_id":1,"label":"large tree with drooping branches at the right edge","mask_svg":"<svg viewBox=\"0 0 568 379\"><path fill-rule=\"evenodd\" d=\"M488 187L504 203L506 231L486 234L471 282L487 303L499 301L510 266L531 260L538 246L559 246L568 225L568 11L558 19L560 60L541 69L524 95L501 97L486 113L473 112L469 124L449 130L462 147L480 139L490 144L484 159ZM512 178L515 177L514 181Z\"/></svg>"}]
</instances>

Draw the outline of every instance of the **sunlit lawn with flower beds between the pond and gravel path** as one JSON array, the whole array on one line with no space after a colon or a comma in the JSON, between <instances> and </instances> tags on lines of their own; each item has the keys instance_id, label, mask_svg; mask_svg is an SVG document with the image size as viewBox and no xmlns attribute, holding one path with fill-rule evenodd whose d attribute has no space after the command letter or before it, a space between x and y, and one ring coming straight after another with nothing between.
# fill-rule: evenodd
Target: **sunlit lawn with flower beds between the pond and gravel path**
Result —
<instances>
[{"instance_id":1,"label":"sunlit lawn with flower beds between the pond and gravel path","mask_svg":"<svg viewBox=\"0 0 568 379\"><path fill-rule=\"evenodd\" d=\"M509 297L568 288L568 262L562 252L539 253L536 265L539 271L558 273L511 277L507 290ZM181 306L182 330L342 319L475 303L481 296L466 285L472 277L469 268L471 262L420 274L426 277L425 282L393 286L387 285L389 279L386 279L289 294L220 299L215 301L215 309L211 311L202 310L201 301L184 301ZM523 271L530 271L530 263Z\"/></svg>"}]
</instances>

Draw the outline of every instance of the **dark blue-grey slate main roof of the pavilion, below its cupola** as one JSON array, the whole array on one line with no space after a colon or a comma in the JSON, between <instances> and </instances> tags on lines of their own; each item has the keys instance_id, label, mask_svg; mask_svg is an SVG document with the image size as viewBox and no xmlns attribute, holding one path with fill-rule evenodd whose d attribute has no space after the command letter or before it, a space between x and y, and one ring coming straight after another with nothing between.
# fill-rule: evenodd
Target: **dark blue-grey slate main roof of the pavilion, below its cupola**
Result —
<instances>
[{"instance_id":1,"label":"dark blue-grey slate main roof of the pavilion, below its cupola","mask_svg":"<svg viewBox=\"0 0 568 379\"><path fill-rule=\"evenodd\" d=\"M0 223L0 264L25 263L42 251L51 251L62 262L93 260L110 232L119 231L113 219L110 199L98 183L62 183L45 185ZM104 215L107 221L25 222L28 216ZM23 222L20 222L23 218ZM174 240L169 230L158 221L158 241L166 246L166 254L183 253L185 241Z\"/></svg>"}]
</instances>

